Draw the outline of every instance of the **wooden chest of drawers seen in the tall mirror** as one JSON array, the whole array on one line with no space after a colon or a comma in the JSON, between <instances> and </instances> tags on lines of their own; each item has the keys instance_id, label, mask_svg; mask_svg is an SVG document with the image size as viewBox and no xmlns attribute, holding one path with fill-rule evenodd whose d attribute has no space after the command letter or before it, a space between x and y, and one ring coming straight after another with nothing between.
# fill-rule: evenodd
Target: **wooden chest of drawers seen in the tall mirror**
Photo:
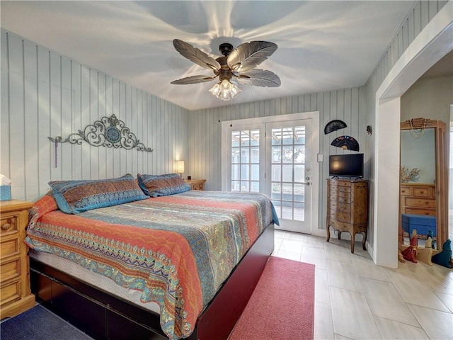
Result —
<instances>
[{"instance_id":1,"label":"wooden chest of drawers seen in the tall mirror","mask_svg":"<svg viewBox=\"0 0 453 340\"><path fill-rule=\"evenodd\" d=\"M401 183L401 214L436 216L435 184Z\"/></svg>"}]
</instances>

